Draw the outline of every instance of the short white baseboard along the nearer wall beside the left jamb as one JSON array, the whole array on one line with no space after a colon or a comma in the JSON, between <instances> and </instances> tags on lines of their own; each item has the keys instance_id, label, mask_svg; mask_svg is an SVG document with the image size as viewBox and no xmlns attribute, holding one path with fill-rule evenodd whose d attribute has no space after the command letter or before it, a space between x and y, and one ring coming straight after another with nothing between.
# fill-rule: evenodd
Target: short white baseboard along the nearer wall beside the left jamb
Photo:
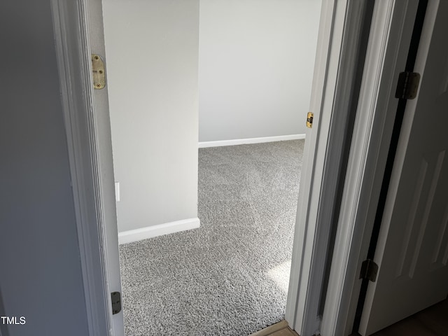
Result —
<instances>
[{"instance_id":1,"label":"short white baseboard along the nearer wall beside the left jamb","mask_svg":"<svg viewBox=\"0 0 448 336\"><path fill-rule=\"evenodd\" d=\"M168 235L174 232L181 232L200 227L199 218L188 218L182 221L174 221L159 225L147 226L146 228L118 232L118 244L132 243L143 239Z\"/></svg>"}]
</instances>

